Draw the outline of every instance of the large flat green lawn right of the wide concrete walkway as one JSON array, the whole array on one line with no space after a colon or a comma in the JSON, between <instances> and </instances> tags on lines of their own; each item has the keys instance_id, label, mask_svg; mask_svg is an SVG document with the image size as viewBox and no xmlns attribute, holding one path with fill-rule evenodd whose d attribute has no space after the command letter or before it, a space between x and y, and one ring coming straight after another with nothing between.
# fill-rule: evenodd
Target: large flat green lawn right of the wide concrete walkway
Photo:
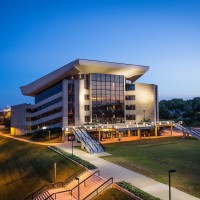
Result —
<instances>
[{"instance_id":1,"label":"large flat green lawn right of the wide concrete walkway","mask_svg":"<svg viewBox=\"0 0 200 200\"><path fill-rule=\"evenodd\" d=\"M200 141L182 138L160 138L133 142L105 144L104 157L130 170L168 184L168 170L172 186L200 197Z\"/></svg>"}]
</instances>

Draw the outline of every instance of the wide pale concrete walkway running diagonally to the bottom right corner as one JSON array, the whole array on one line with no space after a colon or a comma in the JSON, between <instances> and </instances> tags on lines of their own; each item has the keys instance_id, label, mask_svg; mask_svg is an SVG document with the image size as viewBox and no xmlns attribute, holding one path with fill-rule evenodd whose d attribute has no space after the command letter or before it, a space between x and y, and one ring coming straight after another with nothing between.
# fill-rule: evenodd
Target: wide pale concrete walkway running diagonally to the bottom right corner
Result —
<instances>
[{"instance_id":1,"label":"wide pale concrete walkway running diagonally to the bottom right corner","mask_svg":"<svg viewBox=\"0 0 200 200\"><path fill-rule=\"evenodd\" d=\"M56 144L55 146L61 148L62 150L68 153L71 153L72 151L71 144L69 143ZM160 199L163 200L169 199L168 185L159 183L146 176L135 173L124 167L121 167L119 165L101 159L99 156L107 155L107 153L105 152L100 153L100 155L89 154L76 148L73 149L73 152L75 155L79 156L84 160L89 161L90 163L98 167L98 169L100 170L100 175L105 179L113 177L114 182L126 181L155 197L159 197ZM171 188L171 194L172 194L172 200L199 200L199 198L193 197L175 188Z\"/></svg>"}]
</instances>

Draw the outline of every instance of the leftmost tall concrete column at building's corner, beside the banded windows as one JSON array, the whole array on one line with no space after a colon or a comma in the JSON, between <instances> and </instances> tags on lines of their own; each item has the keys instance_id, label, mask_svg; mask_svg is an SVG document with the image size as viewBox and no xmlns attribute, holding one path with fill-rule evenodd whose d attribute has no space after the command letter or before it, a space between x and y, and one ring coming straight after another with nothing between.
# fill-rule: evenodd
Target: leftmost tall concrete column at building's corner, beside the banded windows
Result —
<instances>
[{"instance_id":1,"label":"leftmost tall concrete column at building's corner, beside the banded windows","mask_svg":"<svg viewBox=\"0 0 200 200\"><path fill-rule=\"evenodd\" d=\"M68 80L62 81L62 141L65 141L65 126L68 126Z\"/></svg>"}]
</instances>

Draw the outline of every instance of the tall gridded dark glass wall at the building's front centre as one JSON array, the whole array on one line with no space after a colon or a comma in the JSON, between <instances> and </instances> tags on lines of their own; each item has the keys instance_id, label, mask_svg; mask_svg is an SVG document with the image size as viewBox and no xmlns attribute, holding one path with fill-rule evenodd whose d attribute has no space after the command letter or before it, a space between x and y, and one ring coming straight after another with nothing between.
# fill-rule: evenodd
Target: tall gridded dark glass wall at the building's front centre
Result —
<instances>
[{"instance_id":1,"label":"tall gridded dark glass wall at the building's front centre","mask_svg":"<svg viewBox=\"0 0 200 200\"><path fill-rule=\"evenodd\" d=\"M124 122L124 76L91 74L91 82L93 122Z\"/></svg>"}]
</instances>

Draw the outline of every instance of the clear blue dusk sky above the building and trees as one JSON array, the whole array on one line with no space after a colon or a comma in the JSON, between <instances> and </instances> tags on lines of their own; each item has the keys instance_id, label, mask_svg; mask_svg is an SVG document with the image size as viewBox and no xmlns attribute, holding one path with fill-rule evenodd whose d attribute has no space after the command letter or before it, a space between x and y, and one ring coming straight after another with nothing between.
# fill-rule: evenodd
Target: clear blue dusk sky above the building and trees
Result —
<instances>
[{"instance_id":1,"label":"clear blue dusk sky above the building and trees","mask_svg":"<svg viewBox=\"0 0 200 200\"><path fill-rule=\"evenodd\" d=\"M0 0L0 108L77 58L150 66L159 99L200 96L198 0Z\"/></svg>"}]
</instances>

